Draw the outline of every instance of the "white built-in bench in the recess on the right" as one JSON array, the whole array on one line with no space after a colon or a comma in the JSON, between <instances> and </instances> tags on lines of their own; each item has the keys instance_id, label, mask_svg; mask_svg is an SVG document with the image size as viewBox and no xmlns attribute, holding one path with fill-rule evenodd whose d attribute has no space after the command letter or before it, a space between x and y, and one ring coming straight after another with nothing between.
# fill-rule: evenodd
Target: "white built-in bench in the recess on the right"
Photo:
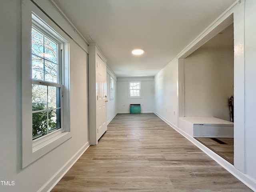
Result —
<instances>
[{"instance_id":1,"label":"white built-in bench in the recess on the right","mask_svg":"<svg viewBox=\"0 0 256 192\"><path fill-rule=\"evenodd\" d=\"M234 137L234 123L214 117L180 117L179 128L193 137Z\"/></svg>"}]
</instances>

